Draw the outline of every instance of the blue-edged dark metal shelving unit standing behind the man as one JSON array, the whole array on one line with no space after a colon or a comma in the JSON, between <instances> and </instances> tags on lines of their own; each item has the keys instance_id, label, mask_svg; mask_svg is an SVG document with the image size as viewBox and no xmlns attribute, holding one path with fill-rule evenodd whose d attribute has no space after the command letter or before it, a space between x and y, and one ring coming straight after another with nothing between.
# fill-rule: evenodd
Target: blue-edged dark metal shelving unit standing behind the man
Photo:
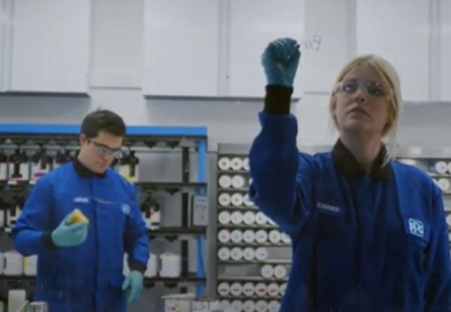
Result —
<instances>
[{"instance_id":1,"label":"blue-edged dark metal shelving unit standing behind the man","mask_svg":"<svg viewBox=\"0 0 451 312\"><path fill-rule=\"evenodd\" d=\"M80 125L54 125L54 124L0 124L0 150L10 148L39 148L46 150L58 150L63 146L67 150L78 148L78 135ZM182 155L182 173L180 180L176 182L136 182L135 186L142 196L148 196L157 191L163 191L173 195L180 193L182 207L180 214L180 227L160 227L149 229L151 239L162 236L169 241L180 239L181 276L179 278L151 277L146 278L144 283L152 287L155 283L173 288L180 286L180 291L187 291L185 284L196 285L196 295L202 297L205 293L205 284L209 283L203 263L203 249L207 227L192 226L189 224L190 196L193 193L199 195L207 194L207 128L205 127L151 127L151 126L128 126L127 139L124 141L124 149L151 151L152 148L171 148L180 150ZM190 154L197 153L196 179L192 181L192 168L190 165ZM3 200L5 194L12 194L15 200L24 202L28 191L33 183L2 182L0 183L0 213L11 209L11 203ZM15 205L15 204L14 204ZM164 209L164 207L162 207ZM6 214L5 214L6 215ZM6 223L6 220L5 220ZM0 234L8 235L10 228L0 228ZM189 272L188 268L188 240L197 238L198 261L196 272ZM30 276L6 276L1 275L2 286L33 286L34 277ZM30 296L31 297L31 296Z\"/></svg>"}]
</instances>

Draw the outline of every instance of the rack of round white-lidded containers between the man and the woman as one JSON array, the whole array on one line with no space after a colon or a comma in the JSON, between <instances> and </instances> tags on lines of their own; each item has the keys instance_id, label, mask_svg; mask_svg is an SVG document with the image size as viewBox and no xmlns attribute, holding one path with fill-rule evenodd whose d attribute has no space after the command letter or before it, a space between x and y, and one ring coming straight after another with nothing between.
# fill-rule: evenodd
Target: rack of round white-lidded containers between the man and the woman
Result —
<instances>
[{"instance_id":1,"label":"rack of round white-lidded containers between the man and the woman","mask_svg":"<svg viewBox=\"0 0 451 312\"><path fill-rule=\"evenodd\" d=\"M241 311L241 309L247 311L245 309L250 310L251 306L259 306L258 311L278 311L291 265L291 244L287 241L287 236L284 237L284 242L281 241L282 234L278 227L259 212L253 202L248 199L249 147L241 144L219 144L215 159L212 193L215 198L214 205L216 205L216 239L214 240L216 298L220 300L223 309L232 307L232 311ZM230 165L232 168L226 168L228 166L221 165L224 159L236 163ZM224 196L230 199L225 199ZM241 214L242 220L235 218L237 213ZM257 214L259 214L258 223ZM224 217L228 215L230 220ZM269 238L271 231L278 233L275 234L277 237L273 242ZM258 241L257 237L251 240L249 236L246 239L240 238L237 234L246 236L246 232L249 236L251 236L250 233L258 233ZM223 237L221 238L223 233L230 234L226 241ZM234 233L237 236L233 237ZM227 255L227 252L226 255L223 254L224 250L230 250L230 255ZM234 255L234 250L241 250L243 254ZM246 250L247 256L245 256ZM257 257L258 250L259 257ZM266 255L262 254L262 250L265 250ZM255 254L252 257L253 252ZM269 277L271 274L263 277L262 270L265 266L266 268L282 266L286 274L281 277Z\"/></svg>"}]
</instances>

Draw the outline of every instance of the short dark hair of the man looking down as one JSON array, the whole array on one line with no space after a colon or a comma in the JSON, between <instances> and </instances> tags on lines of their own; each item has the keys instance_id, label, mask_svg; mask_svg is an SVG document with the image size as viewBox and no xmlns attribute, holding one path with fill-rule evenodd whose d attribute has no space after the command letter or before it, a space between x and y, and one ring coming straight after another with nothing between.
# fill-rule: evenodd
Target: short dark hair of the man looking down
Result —
<instances>
[{"instance_id":1,"label":"short dark hair of the man looking down","mask_svg":"<svg viewBox=\"0 0 451 312\"><path fill-rule=\"evenodd\" d=\"M107 132L114 137L126 136L126 124L121 116L110 110L96 110L85 116L81 123L81 133L94 138L99 132Z\"/></svg>"}]
</instances>

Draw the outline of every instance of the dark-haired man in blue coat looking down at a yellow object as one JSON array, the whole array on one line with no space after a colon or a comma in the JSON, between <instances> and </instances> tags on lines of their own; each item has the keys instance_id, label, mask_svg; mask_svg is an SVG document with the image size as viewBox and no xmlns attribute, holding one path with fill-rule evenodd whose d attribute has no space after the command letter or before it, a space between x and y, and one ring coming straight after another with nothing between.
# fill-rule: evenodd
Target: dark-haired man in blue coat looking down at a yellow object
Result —
<instances>
[{"instance_id":1,"label":"dark-haired man in blue coat looking down at a yellow object","mask_svg":"<svg viewBox=\"0 0 451 312\"><path fill-rule=\"evenodd\" d=\"M125 312L126 302L139 298L146 225L133 185L110 168L125 135L114 112L85 116L78 156L37 182L12 231L20 253L38 256L35 300L47 302L49 312ZM74 209L89 222L73 223Z\"/></svg>"}]
</instances>

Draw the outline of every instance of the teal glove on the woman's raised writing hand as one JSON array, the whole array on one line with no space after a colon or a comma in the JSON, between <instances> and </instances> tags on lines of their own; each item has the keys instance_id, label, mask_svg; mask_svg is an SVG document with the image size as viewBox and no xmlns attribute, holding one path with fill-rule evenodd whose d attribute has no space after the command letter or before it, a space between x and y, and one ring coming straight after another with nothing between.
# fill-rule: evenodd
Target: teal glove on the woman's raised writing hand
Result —
<instances>
[{"instance_id":1,"label":"teal glove on the woman's raised writing hand","mask_svg":"<svg viewBox=\"0 0 451 312\"><path fill-rule=\"evenodd\" d=\"M293 87L300 59L299 44L291 38L270 42L262 55L268 85Z\"/></svg>"}]
</instances>

